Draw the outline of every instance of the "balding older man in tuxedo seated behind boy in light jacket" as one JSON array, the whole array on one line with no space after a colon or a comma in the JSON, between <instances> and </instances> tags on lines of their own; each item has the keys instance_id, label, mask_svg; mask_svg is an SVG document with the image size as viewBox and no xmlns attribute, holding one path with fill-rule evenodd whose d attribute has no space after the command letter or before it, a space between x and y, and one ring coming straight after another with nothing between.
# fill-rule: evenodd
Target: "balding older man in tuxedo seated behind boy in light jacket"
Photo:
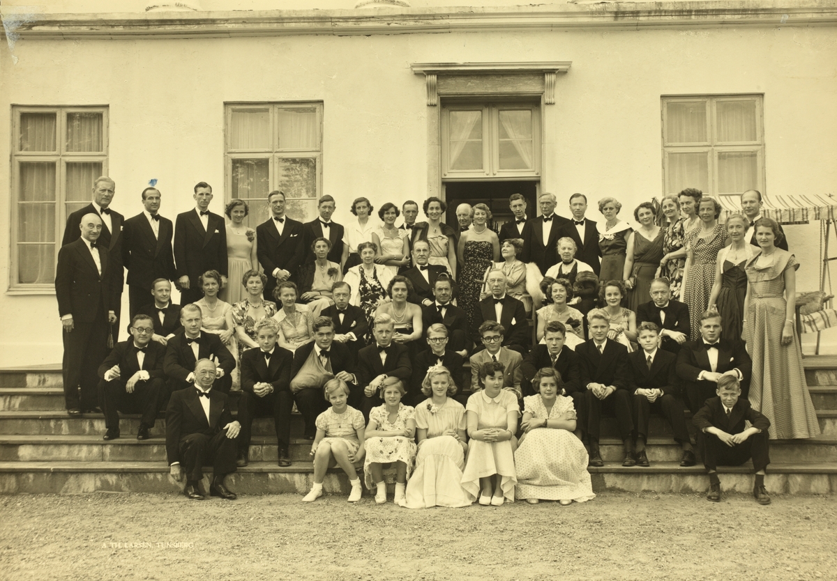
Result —
<instances>
[{"instance_id":1,"label":"balding older man in tuxedo seated behind boy in light jacket","mask_svg":"<svg viewBox=\"0 0 837 581\"><path fill-rule=\"evenodd\" d=\"M526 319L526 308L521 301L506 294L506 274L501 270L488 273L488 288L490 296L477 303L474 311L474 320L471 323L471 339L474 344L482 344L480 325L485 321L496 321L506 329L503 347L514 349L520 354L528 353L531 328L529 319ZM475 350L480 349L475 347Z\"/></svg>"}]
</instances>

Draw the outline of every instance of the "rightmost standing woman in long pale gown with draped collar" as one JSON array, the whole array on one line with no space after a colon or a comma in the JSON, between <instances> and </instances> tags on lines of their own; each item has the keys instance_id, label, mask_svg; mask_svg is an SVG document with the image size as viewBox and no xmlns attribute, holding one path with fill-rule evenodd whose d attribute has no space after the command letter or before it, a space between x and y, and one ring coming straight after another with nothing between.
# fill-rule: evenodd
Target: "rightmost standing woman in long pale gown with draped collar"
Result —
<instances>
[{"instance_id":1,"label":"rightmost standing woman in long pale gown with draped collar","mask_svg":"<svg viewBox=\"0 0 837 581\"><path fill-rule=\"evenodd\" d=\"M778 223L761 218L755 229L762 252L746 268L744 339L752 359L747 399L770 420L771 439L813 438L819 436L819 421L793 326L799 264L793 254L776 247L782 240Z\"/></svg>"}]
</instances>

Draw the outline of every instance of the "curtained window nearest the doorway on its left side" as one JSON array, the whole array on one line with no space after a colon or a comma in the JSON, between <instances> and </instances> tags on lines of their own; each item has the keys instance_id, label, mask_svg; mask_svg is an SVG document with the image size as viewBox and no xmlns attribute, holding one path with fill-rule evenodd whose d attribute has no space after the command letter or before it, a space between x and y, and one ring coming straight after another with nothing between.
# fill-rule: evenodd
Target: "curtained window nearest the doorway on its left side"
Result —
<instances>
[{"instance_id":1,"label":"curtained window nearest the doorway on its left side","mask_svg":"<svg viewBox=\"0 0 837 581\"><path fill-rule=\"evenodd\" d=\"M316 217L322 184L322 103L226 105L229 199L247 201L256 227L270 215L267 196L285 192L288 216Z\"/></svg>"}]
</instances>

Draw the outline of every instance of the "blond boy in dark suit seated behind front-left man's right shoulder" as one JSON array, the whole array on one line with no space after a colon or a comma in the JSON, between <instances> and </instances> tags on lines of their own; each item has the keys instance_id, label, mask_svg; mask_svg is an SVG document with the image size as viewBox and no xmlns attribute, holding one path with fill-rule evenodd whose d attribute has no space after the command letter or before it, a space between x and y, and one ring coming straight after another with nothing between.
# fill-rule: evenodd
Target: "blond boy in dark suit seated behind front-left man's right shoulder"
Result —
<instances>
[{"instance_id":1,"label":"blond boy in dark suit seated behind front-left man's right shoulder","mask_svg":"<svg viewBox=\"0 0 837 581\"><path fill-rule=\"evenodd\" d=\"M290 366L294 354L276 344L279 324L275 319L261 319L254 325L259 349L247 349L241 355L241 397L239 398L239 456L236 466L247 466L253 419L273 418L279 443L279 466L290 466ZM265 458L262 458L265 460Z\"/></svg>"}]
</instances>

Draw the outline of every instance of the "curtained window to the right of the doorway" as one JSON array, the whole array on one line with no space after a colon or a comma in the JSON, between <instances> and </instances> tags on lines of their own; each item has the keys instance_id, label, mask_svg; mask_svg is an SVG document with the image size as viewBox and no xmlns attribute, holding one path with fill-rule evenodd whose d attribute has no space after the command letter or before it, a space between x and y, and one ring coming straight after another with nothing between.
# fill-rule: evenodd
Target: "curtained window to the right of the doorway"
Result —
<instances>
[{"instance_id":1,"label":"curtained window to the right of the doorway","mask_svg":"<svg viewBox=\"0 0 837 581\"><path fill-rule=\"evenodd\" d=\"M665 194L764 192L763 95L663 97Z\"/></svg>"}]
</instances>

